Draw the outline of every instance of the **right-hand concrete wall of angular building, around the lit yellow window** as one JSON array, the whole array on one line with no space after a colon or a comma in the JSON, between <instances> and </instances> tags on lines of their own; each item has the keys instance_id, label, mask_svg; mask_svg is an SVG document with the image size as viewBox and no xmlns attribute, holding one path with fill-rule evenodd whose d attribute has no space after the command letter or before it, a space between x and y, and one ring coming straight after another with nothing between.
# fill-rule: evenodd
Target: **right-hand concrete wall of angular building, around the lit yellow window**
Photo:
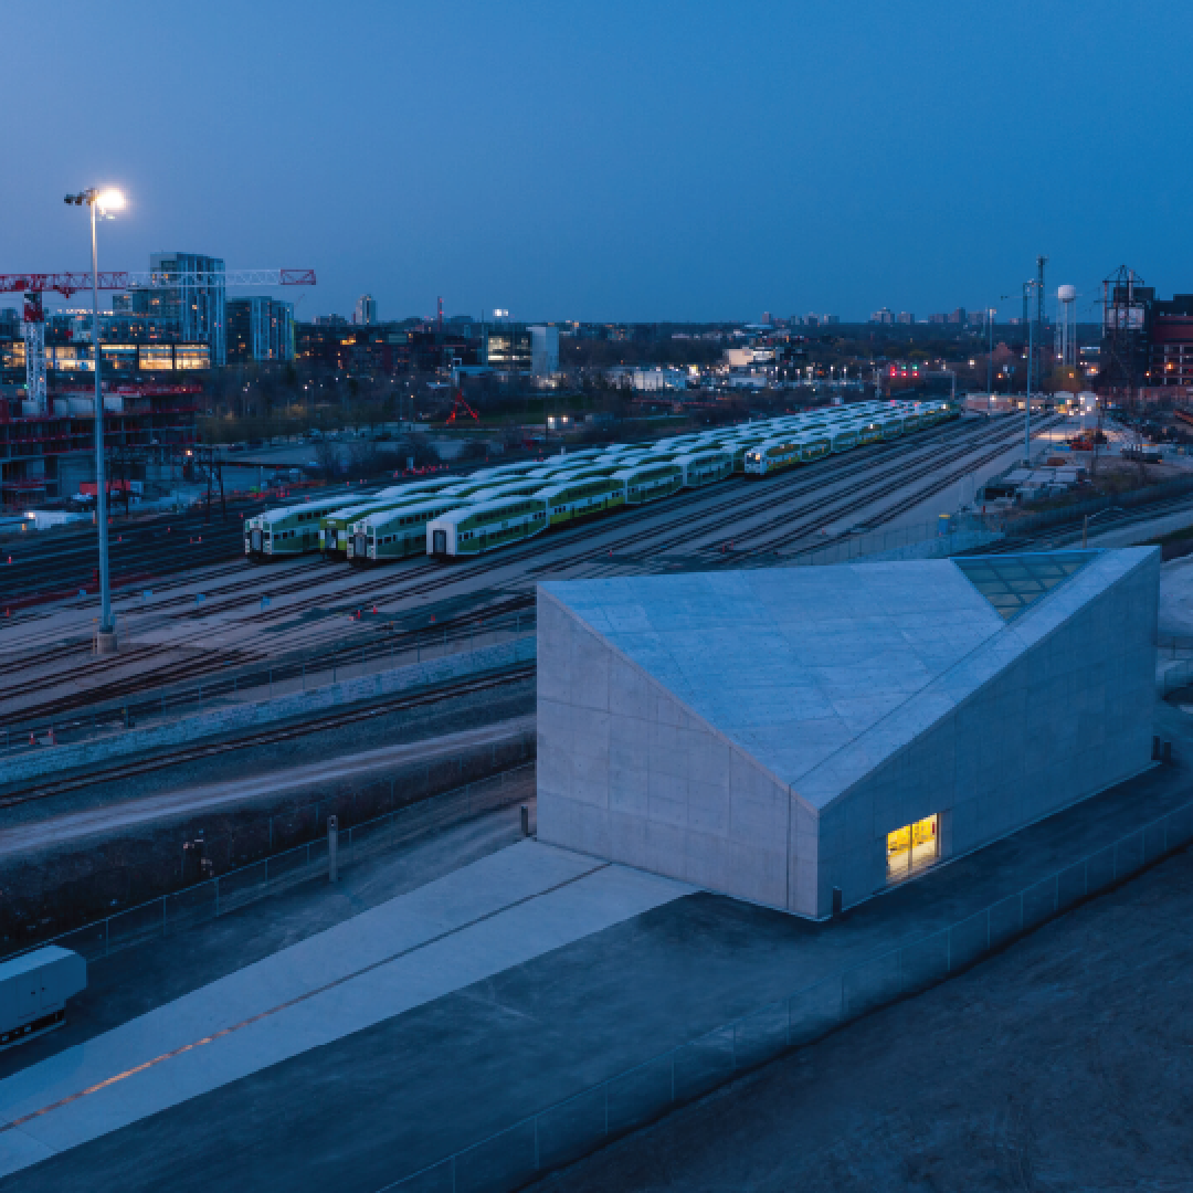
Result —
<instances>
[{"instance_id":1,"label":"right-hand concrete wall of angular building, around the lit yellow window","mask_svg":"<svg viewBox=\"0 0 1193 1193\"><path fill-rule=\"evenodd\" d=\"M1107 571L1121 573L1102 588ZM1160 551L1129 569L1102 556L979 648L892 721L950 686L968 694L821 815L818 915L888 886L886 834L942 814L956 855L1137 774L1151 758ZM1099 592L1099 588L1101 591ZM956 674L958 670L963 674ZM976 690L973 674L989 678ZM900 734L901 727L879 727ZM858 747L871 743L863 740Z\"/></svg>"}]
</instances>

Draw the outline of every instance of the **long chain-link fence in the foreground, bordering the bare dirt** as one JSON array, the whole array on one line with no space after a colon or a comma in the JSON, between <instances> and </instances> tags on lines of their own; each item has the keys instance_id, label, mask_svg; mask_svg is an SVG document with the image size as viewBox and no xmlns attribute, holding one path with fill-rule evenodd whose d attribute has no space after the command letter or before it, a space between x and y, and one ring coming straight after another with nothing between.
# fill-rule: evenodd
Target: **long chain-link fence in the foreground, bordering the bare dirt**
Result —
<instances>
[{"instance_id":1,"label":"long chain-link fence in the foreground, bordering the bare dirt","mask_svg":"<svg viewBox=\"0 0 1193 1193\"><path fill-rule=\"evenodd\" d=\"M385 1189L512 1193L784 1052L920 994L1193 840L1193 803L900 948L704 1032Z\"/></svg>"}]
</instances>

